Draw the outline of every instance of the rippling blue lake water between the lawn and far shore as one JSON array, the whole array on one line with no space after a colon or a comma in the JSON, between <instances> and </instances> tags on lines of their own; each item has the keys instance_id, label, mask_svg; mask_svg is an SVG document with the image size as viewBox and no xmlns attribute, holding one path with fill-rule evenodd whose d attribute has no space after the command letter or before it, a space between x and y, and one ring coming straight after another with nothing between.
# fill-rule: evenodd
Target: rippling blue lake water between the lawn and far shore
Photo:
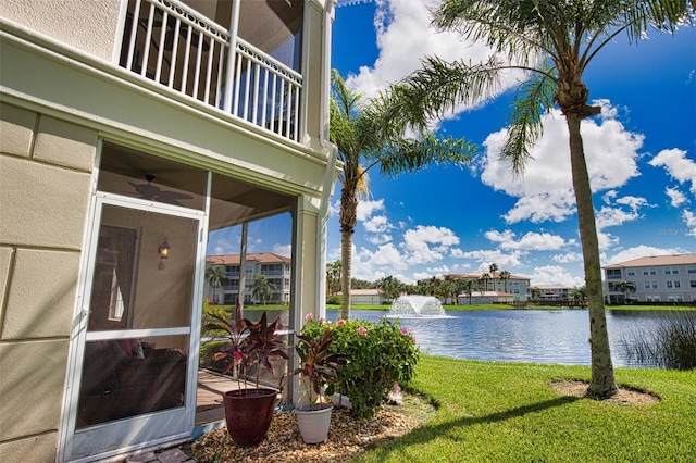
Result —
<instances>
[{"instance_id":1,"label":"rippling blue lake water between the lawn and far shore","mask_svg":"<svg viewBox=\"0 0 696 463\"><path fill-rule=\"evenodd\" d=\"M327 311L335 321L340 312ZM377 321L388 311L351 311L351 318ZM403 318L424 353L455 359L589 365L589 320L586 310L448 311L447 318ZM660 312L607 311L614 366L631 366L621 340L649 329Z\"/></svg>"}]
</instances>

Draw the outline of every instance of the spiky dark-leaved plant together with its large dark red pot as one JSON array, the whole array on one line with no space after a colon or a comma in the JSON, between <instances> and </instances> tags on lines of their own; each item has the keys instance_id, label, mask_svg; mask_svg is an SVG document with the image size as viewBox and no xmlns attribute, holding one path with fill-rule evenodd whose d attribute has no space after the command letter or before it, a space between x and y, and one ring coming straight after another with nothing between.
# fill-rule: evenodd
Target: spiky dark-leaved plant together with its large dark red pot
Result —
<instances>
[{"instance_id":1,"label":"spiky dark-leaved plant together with its large dark red pot","mask_svg":"<svg viewBox=\"0 0 696 463\"><path fill-rule=\"evenodd\" d=\"M238 388L223 393L227 433L238 446L256 446L263 440L271 426L279 392L278 389L259 387L260 370L263 366L273 374L272 360L289 358L286 352L287 347L276 334L282 327L281 318L277 317L269 324L265 312L258 323L241 318L238 312L235 313L234 322L215 314L210 316L214 321L207 323L204 329L223 331L223 335L214 336L212 340L226 341L220 351L213 354L213 361L229 360L222 371L223 375L237 367ZM246 374L247 368L252 365L257 365L256 385L248 387Z\"/></svg>"}]
</instances>

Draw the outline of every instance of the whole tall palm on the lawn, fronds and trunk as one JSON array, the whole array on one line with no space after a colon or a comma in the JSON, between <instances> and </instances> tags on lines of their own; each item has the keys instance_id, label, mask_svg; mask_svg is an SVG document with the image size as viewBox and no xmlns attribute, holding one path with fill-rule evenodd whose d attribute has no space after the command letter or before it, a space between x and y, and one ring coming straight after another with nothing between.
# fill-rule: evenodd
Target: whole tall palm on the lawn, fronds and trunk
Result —
<instances>
[{"instance_id":1,"label":"whole tall palm on the lawn, fronds and trunk","mask_svg":"<svg viewBox=\"0 0 696 463\"><path fill-rule=\"evenodd\" d=\"M618 392L604 305L599 246L589 176L580 132L583 118L599 114L587 104L583 82L588 64L619 34L637 40L648 28L674 32L693 24L694 0L446 0L433 23L482 40L495 53L487 62L446 62L428 58L406 80L408 108L418 109L412 123L426 124L460 103L472 104L499 90L502 72L521 70L502 157L515 174L524 172L535 140L542 135L540 114L558 105L569 129L570 160L583 250L591 329L592 379L587 395L598 399Z\"/></svg>"}]
</instances>

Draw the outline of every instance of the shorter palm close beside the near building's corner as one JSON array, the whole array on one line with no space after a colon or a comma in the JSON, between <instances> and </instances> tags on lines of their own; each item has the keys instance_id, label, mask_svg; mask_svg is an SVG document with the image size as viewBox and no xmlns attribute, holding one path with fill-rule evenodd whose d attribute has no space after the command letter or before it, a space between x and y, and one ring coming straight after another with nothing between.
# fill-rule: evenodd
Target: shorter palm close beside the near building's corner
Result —
<instances>
[{"instance_id":1,"label":"shorter palm close beside the near building's corner","mask_svg":"<svg viewBox=\"0 0 696 463\"><path fill-rule=\"evenodd\" d=\"M352 235L357 224L358 202L368 195L368 173L375 166L384 176L396 177L420 171L430 164L464 164L474 147L463 139L442 138L412 127L403 117L407 112L401 86L389 87L377 97L361 103L361 95L346 85L338 72L332 74L330 138L343 162L340 180L340 317L350 317L350 265ZM415 130L418 138L407 138Z\"/></svg>"}]
</instances>

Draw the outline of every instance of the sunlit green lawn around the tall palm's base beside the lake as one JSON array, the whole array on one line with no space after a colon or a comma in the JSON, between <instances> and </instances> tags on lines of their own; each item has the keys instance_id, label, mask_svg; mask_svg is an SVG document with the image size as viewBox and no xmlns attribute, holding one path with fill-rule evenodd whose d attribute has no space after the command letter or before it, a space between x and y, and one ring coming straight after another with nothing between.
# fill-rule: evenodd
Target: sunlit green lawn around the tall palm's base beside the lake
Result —
<instances>
[{"instance_id":1,"label":"sunlit green lawn around the tall palm's base beside the lake","mask_svg":"<svg viewBox=\"0 0 696 463\"><path fill-rule=\"evenodd\" d=\"M422 356L411 384L435 415L359 462L694 462L696 372L617 368L656 404L563 397L549 384L589 367Z\"/></svg>"}]
</instances>

